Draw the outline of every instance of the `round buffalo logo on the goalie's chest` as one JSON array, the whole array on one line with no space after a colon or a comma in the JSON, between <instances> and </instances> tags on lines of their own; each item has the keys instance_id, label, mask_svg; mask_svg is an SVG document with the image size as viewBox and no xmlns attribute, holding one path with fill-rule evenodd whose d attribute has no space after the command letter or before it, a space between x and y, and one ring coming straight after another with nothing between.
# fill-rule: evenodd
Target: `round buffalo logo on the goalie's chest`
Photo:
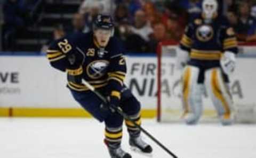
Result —
<instances>
[{"instance_id":1,"label":"round buffalo logo on the goalie's chest","mask_svg":"<svg viewBox=\"0 0 256 158\"><path fill-rule=\"evenodd\" d=\"M209 25L202 25L196 30L196 37L198 40L207 42L213 37L213 29Z\"/></svg>"}]
</instances>

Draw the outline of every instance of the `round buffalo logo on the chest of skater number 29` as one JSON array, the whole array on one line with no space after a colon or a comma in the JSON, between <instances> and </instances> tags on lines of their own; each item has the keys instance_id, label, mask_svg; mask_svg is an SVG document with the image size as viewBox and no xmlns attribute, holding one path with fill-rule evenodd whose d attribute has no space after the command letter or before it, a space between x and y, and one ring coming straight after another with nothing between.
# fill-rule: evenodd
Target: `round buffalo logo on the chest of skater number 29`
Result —
<instances>
[{"instance_id":1,"label":"round buffalo logo on the chest of skater number 29","mask_svg":"<svg viewBox=\"0 0 256 158\"><path fill-rule=\"evenodd\" d=\"M87 66L87 75L93 79L102 77L106 74L108 64L109 62L107 60L95 60Z\"/></svg>"}]
</instances>

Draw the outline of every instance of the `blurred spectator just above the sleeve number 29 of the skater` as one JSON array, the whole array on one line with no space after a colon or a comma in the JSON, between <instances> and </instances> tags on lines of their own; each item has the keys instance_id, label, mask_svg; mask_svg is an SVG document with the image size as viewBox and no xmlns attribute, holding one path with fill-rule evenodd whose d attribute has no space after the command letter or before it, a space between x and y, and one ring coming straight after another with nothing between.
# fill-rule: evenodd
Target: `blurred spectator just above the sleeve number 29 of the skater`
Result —
<instances>
[{"instance_id":1,"label":"blurred spectator just above the sleeve number 29 of the skater","mask_svg":"<svg viewBox=\"0 0 256 158\"><path fill-rule=\"evenodd\" d=\"M42 53L45 53L46 50L49 48L49 45L51 44L52 41L61 39L61 38L64 37L64 36L65 36L65 31L64 31L64 29L63 29L63 26L60 25L60 24L55 25L55 26L54 26L54 30L53 30L53 32L52 32L52 39L49 40L49 41L47 41L47 42L45 43L45 45L42 46L41 52L42 52Z\"/></svg>"}]
</instances>

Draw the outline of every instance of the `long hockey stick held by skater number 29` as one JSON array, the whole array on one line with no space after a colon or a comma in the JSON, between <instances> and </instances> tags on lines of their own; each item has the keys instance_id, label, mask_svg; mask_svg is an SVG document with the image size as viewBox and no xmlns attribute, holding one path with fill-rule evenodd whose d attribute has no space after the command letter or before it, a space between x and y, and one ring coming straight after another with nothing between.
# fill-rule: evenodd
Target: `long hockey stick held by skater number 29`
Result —
<instances>
[{"instance_id":1,"label":"long hockey stick held by skater number 29","mask_svg":"<svg viewBox=\"0 0 256 158\"><path fill-rule=\"evenodd\" d=\"M96 94L104 103L108 104L108 100L95 88L85 80L82 80L82 83L88 87L89 90L91 90L94 94ZM165 147L162 143L160 143L154 136L148 133L147 130L142 128L140 125L138 125L134 120L132 120L129 116L127 116L123 110L120 107L111 106L109 107L111 110L115 110L119 113L119 115L123 116L126 120L129 120L133 123L133 125L137 128L139 128L144 134L146 134L150 139L152 139L157 145L159 145L164 151L166 151L168 154L170 154L173 158L178 158L175 154L173 154L167 147Z\"/></svg>"}]
</instances>

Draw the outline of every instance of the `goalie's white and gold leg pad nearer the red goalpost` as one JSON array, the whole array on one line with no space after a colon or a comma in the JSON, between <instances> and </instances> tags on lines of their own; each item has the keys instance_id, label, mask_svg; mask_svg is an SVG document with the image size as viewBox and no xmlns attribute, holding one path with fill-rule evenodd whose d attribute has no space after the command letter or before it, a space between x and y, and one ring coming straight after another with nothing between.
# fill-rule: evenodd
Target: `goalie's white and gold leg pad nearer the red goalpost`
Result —
<instances>
[{"instance_id":1,"label":"goalie's white and gold leg pad nearer the red goalpost","mask_svg":"<svg viewBox=\"0 0 256 158\"><path fill-rule=\"evenodd\" d=\"M200 69L195 66L186 66L182 81L183 118L189 125L197 124L202 115L202 92L198 84Z\"/></svg>"}]
</instances>

